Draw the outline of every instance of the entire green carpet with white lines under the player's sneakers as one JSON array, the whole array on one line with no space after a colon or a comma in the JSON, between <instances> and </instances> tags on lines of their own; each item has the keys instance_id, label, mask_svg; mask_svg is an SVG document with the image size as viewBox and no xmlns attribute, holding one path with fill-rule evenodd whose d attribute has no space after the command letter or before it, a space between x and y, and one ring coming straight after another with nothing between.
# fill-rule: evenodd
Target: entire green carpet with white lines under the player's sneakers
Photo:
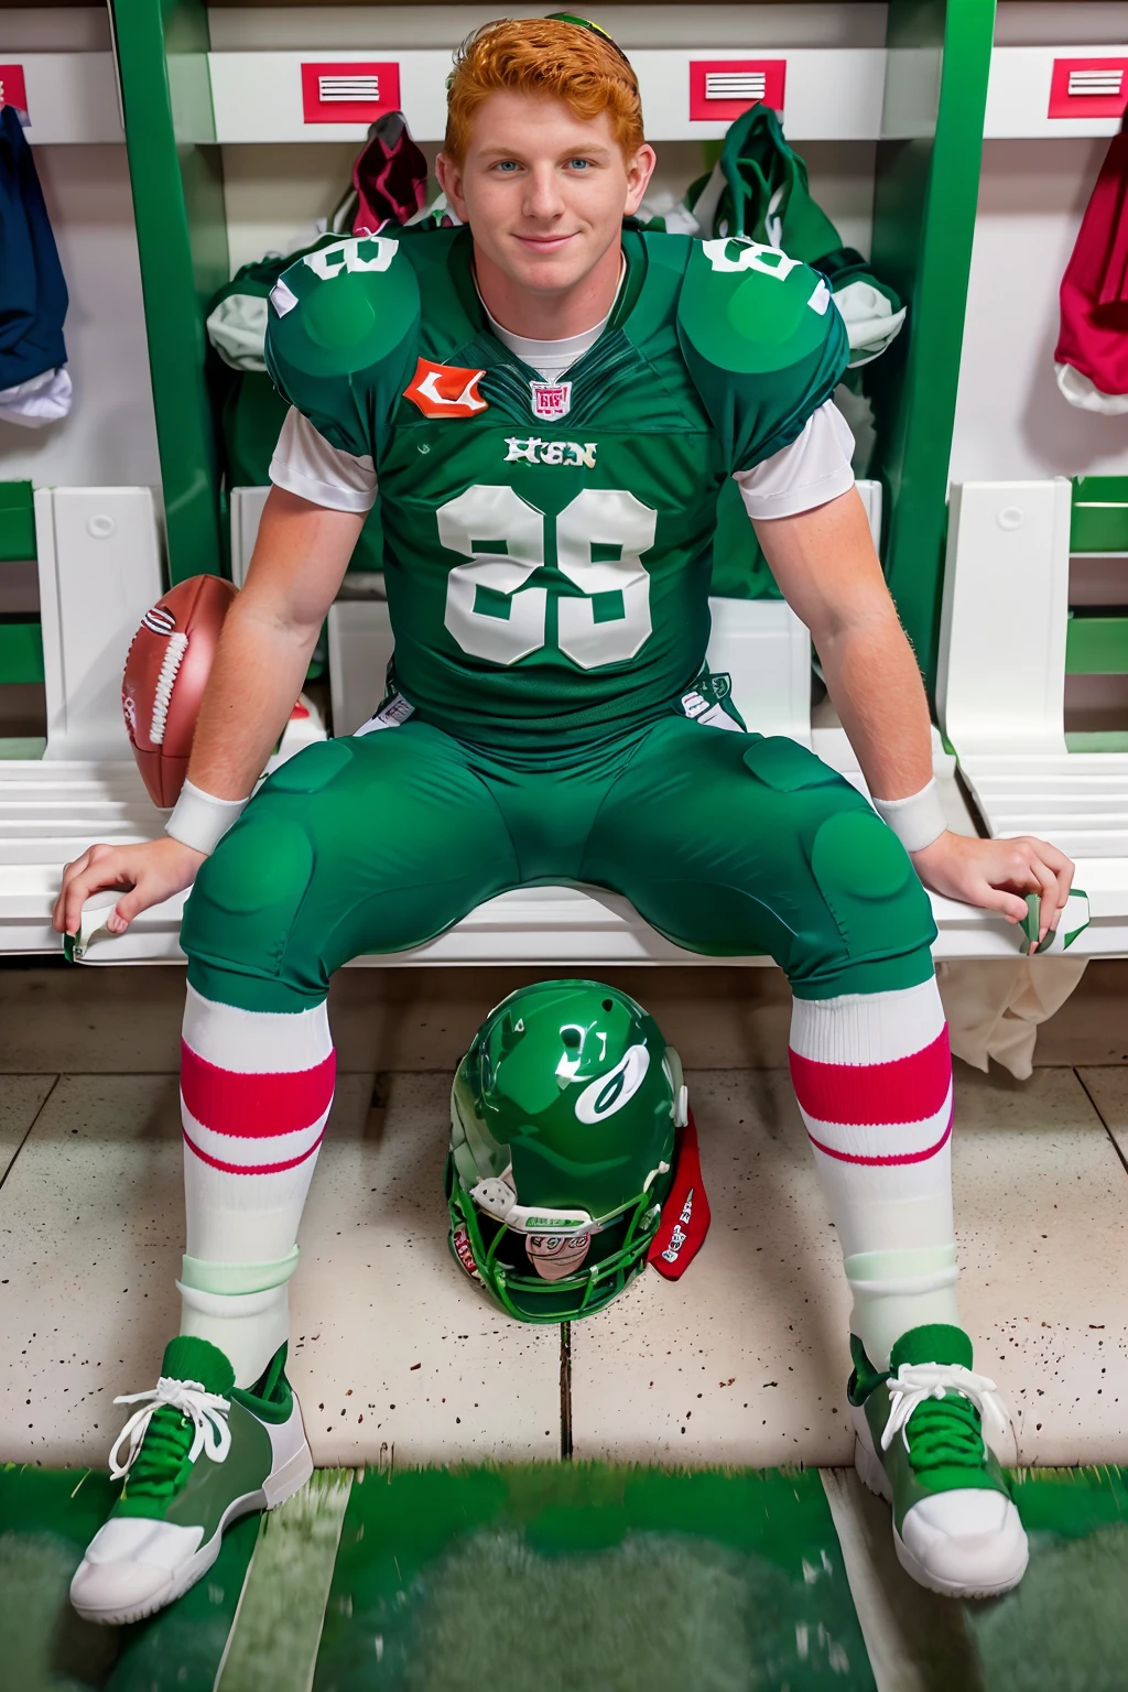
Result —
<instances>
[{"instance_id":1,"label":"entire green carpet with white lines under the player's sneakers","mask_svg":"<svg viewBox=\"0 0 1128 1692\"><path fill-rule=\"evenodd\" d=\"M1016 1474L1030 1568L988 1604L917 1587L849 1470L326 1470L238 1523L171 1609L107 1629L78 1621L68 1585L113 1491L91 1470L0 1469L5 1692L1128 1685L1120 1469Z\"/></svg>"}]
</instances>

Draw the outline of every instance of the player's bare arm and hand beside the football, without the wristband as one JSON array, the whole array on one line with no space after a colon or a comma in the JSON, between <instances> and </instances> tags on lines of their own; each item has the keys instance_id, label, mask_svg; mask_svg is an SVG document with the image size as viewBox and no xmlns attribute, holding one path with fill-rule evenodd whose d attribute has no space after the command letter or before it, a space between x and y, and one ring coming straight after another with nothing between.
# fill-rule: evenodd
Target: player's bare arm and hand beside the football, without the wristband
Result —
<instances>
[{"instance_id":1,"label":"player's bare arm and hand beside the football, without the wristband","mask_svg":"<svg viewBox=\"0 0 1128 1692\"><path fill-rule=\"evenodd\" d=\"M364 519L271 489L247 585L223 623L200 707L189 777L205 794L245 799L262 773ZM91 846L63 871L54 927L78 932L85 900L120 887L127 892L107 927L122 934L140 910L191 887L203 858L169 834L140 846Z\"/></svg>"}]
</instances>

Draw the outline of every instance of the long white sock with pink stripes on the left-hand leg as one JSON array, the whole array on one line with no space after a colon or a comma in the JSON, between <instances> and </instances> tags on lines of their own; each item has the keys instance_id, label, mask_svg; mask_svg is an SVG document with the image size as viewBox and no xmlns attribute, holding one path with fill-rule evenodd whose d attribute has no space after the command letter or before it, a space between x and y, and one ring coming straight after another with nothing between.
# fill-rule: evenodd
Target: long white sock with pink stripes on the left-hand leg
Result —
<instances>
[{"instance_id":1,"label":"long white sock with pink stripes on the left-hand leg","mask_svg":"<svg viewBox=\"0 0 1128 1692\"><path fill-rule=\"evenodd\" d=\"M188 988L181 1333L218 1345L242 1387L289 1333L287 1283L333 1076L325 1003L238 1010Z\"/></svg>"}]
</instances>

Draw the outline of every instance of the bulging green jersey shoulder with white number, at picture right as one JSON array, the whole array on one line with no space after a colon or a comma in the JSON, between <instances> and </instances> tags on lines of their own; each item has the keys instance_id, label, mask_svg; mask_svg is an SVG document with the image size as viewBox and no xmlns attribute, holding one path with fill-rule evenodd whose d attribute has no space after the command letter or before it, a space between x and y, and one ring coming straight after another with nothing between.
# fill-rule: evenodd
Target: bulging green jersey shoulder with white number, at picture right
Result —
<instances>
[{"instance_id":1,"label":"bulging green jersey shoulder with white number, at picture right","mask_svg":"<svg viewBox=\"0 0 1128 1692\"><path fill-rule=\"evenodd\" d=\"M825 277L744 237L693 242L678 338L732 470L790 445L849 360Z\"/></svg>"}]
</instances>

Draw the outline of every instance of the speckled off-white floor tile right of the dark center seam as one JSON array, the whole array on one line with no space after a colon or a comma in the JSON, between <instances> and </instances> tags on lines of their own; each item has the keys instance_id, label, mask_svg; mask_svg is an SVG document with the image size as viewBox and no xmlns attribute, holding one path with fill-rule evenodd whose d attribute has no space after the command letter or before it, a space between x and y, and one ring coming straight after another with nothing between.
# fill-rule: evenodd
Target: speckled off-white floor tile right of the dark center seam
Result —
<instances>
[{"instance_id":1,"label":"speckled off-white floor tile right of the dark center seam","mask_svg":"<svg viewBox=\"0 0 1128 1692\"><path fill-rule=\"evenodd\" d=\"M1118 1096L1128 1069L1089 1069ZM690 1076L714 1223L572 1335L577 1457L842 1464L849 1299L783 1071ZM1109 1118L1111 1120L1111 1118ZM1128 1176L1072 1069L957 1066L961 1306L1028 1464L1128 1459ZM688 1415L687 1415L688 1413Z\"/></svg>"}]
</instances>

